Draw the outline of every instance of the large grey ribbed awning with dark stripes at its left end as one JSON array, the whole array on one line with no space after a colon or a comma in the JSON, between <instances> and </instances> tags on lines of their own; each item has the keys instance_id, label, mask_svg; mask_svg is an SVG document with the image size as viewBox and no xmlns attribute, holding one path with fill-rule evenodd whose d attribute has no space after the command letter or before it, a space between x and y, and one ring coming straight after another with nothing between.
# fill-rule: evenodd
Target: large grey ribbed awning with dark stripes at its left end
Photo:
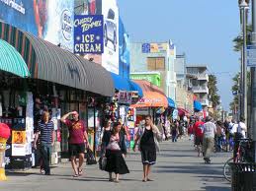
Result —
<instances>
[{"instance_id":1,"label":"large grey ribbed awning with dark stripes at its left end","mask_svg":"<svg viewBox=\"0 0 256 191\"><path fill-rule=\"evenodd\" d=\"M34 79L102 96L115 94L110 73L96 63L4 23L0 23L0 38L21 53Z\"/></svg>"}]
</instances>

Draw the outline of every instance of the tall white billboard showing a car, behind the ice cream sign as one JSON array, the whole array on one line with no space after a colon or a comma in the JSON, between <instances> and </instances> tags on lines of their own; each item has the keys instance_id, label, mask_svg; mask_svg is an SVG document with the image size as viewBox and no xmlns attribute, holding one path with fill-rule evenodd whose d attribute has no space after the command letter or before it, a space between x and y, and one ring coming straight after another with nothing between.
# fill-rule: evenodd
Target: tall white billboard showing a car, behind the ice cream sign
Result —
<instances>
[{"instance_id":1,"label":"tall white billboard showing a car, behind the ice cream sign","mask_svg":"<svg viewBox=\"0 0 256 191\"><path fill-rule=\"evenodd\" d=\"M116 0L102 1L104 15L104 54L102 66L119 74L119 8Z\"/></svg>"}]
</instances>

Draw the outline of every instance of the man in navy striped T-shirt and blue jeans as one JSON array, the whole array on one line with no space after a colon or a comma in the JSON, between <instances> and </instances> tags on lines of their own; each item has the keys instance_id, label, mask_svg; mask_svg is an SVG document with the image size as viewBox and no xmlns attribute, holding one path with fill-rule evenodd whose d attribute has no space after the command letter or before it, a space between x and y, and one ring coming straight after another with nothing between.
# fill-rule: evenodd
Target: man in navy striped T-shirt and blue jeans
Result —
<instances>
[{"instance_id":1,"label":"man in navy striped T-shirt and blue jeans","mask_svg":"<svg viewBox=\"0 0 256 191\"><path fill-rule=\"evenodd\" d=\"M41 134L40 134L41 133ZM54 145L54 125L53 122L49 120L48 111L43 111L42 120L39 122L38 128L35 134L34 148L37 149L37 142L40 137L41 146L41 171L44 169L45 175L50 175L50 159L51 159L51 149Z\"/></svg>"}]
</instances>

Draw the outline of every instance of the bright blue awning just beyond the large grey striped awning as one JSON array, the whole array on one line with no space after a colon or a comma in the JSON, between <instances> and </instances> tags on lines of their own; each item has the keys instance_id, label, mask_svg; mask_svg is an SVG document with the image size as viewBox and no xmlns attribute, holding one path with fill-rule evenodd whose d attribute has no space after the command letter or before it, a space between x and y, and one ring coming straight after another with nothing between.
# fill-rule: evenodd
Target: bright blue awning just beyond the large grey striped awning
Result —
<instances>
[{"instance_id":1,"label":"bright blue awning just beyond the large grey striped awning","mask_svg":"<svg viewBox=\"0 0 256 191\"><path fill-rule=\"evenodd\" d=\"M143 92L141 88L134 82L129 79L123 78L117 74L111 73L111 76L114 81L115 89L119 91L136 91L138 92L138 96L143 96Z\"/></svg>"}]
</instances>

